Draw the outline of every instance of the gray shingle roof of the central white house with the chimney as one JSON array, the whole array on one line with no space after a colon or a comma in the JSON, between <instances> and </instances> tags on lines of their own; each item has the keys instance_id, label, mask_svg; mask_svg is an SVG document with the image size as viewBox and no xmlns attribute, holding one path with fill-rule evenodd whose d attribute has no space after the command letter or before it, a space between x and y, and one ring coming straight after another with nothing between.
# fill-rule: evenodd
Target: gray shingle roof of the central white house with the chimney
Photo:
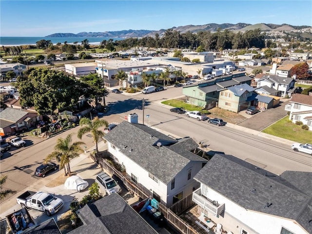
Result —
<instances>
[{"instance_id":1,"label":"gray shingle roof of the central white house with the chimney","mask_svg":"<svg viewBox=\"0 0 312 234\"><path fill-rule=\"evenodd\" d=\"M190 161L206 162L194 153L187 152L198 147L192 138L177 141L140 124L123 121L104 138L165 184ZM161 143L161 147L156 145L158 142Z\"/></svg>"}]
</instances>

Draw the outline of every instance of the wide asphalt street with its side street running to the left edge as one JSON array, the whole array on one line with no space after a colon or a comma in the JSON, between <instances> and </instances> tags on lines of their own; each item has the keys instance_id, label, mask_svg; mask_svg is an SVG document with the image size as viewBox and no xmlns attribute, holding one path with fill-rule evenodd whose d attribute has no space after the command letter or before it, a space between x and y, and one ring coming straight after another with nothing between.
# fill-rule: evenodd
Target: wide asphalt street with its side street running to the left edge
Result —
<instances>
[{"instance_id":1,"label":"wide asphalt street with its side street running to the left edge","mask_svg":"<svg viewBox=\"0 0 312 234\"><path fill-rule=\"evenodd\" d=\"M161 92L135 96L110 93L106 97L110 109L102 118L109 123L120 123L128 114L137 113L139 123L143 123L144 116L144 124L177 137L192 137L195 142L203 142L207 145L211 153L232 154L276 174L281 174L285 170L311 171L311 155L293 152L288 143L263 138L256 131L249 129L237 129L237 126L232 128L230 124L217 127L207 121L187 118L185 115L170 112L169 106L160 104L163 100L181 96L181 89L181 87L168 88ZM144 115L142 98L145 100ZM34 170L42 163L45 156L53 151L56 140L59 137L66 137L69 133L76 133L78 128L72 128L1 160L1 173L8 175L4 189L15 191L22 191L28 187L31 189L32 184L41 179L33 176ZM73 142L77 140L74 134ZM94 144L92 137L86 135L83 136L82 141L87 148ZM12 198L15 199L15 196L13 195Z\"/></svg>"}]
</instances>

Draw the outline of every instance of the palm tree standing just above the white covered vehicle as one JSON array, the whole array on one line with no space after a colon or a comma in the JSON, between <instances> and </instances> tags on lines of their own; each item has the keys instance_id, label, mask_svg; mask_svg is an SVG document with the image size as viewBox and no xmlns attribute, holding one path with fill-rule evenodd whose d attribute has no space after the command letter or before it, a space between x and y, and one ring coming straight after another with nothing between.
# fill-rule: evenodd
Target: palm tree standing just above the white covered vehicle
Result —
<instances>
[{"instance_id":1,"label":"palm tree standing just above the white covered vehicle","mask_svg":"<svg viewBox=\"0 0 312 234\"><path fill-rule=\"evenodd\" d=\"M64 168L65 175L70 175L70 160L78 157L79 154L83 152L83 149L81 149L80 146L84 144L81 141L74 142L73 144L71 143L72 134L66 136L65 139L59 138L54 147L55 151L46 156L44 163L48 163L49 161L55 159L59 162L59 168Z\"/></svg>"}]
</instances>

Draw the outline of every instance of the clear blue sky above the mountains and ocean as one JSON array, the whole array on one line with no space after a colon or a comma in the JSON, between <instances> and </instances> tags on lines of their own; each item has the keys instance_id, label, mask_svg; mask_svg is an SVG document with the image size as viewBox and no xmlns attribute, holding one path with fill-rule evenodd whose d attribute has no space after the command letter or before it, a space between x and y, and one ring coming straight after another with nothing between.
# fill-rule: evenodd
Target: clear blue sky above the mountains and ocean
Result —
<instances>
[{"instance_id":1,"label":"clear blue sky above the mountains and ocean","mask_svg":"<svg viewBox=\"0 0 312 234\"><path fill-rule=\"evenodd\" d=\"M0 0L1 37L239 22L312 26L312 1Z\"/></svg>"}]
</instances>

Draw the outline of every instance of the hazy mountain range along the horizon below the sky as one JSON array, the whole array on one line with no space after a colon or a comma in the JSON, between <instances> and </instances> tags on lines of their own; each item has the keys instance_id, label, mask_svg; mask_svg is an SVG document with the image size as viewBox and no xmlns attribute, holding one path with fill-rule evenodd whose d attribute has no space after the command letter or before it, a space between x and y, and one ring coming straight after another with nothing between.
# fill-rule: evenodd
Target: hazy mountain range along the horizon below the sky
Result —
<instances>
[{"instance_id":1,"label":"hazy mountain range along the horizon below the sky","mask_svg":"<svg viewBox=\"0 0 312 234\"><path fill-rule=\"evenodd\" d=\"M179 31L180 33L192 32L197 33L199 31L210 31L216 32L218 28L221 30L231 30L234 32L245 32L247 30L253 30L260 28L261 31L292 31L299 30L303 28L309 28L311 26L303 25L303 26L292 26L289 24L273 24L273 23L257 23L257 24L249 24L249 23L209 23L204 25L185 25L172 27L170 29ZM140 37L148 37L155 36L156 33L159 36L162 36L167 29L160 29L158 31L153 30L122 30L122 31L107 31L107 32L80 32L77 34L74 33L54 33L48 35L46 37L108 37L108 38L140 38Z\"/></svg>"}]
</instances>

